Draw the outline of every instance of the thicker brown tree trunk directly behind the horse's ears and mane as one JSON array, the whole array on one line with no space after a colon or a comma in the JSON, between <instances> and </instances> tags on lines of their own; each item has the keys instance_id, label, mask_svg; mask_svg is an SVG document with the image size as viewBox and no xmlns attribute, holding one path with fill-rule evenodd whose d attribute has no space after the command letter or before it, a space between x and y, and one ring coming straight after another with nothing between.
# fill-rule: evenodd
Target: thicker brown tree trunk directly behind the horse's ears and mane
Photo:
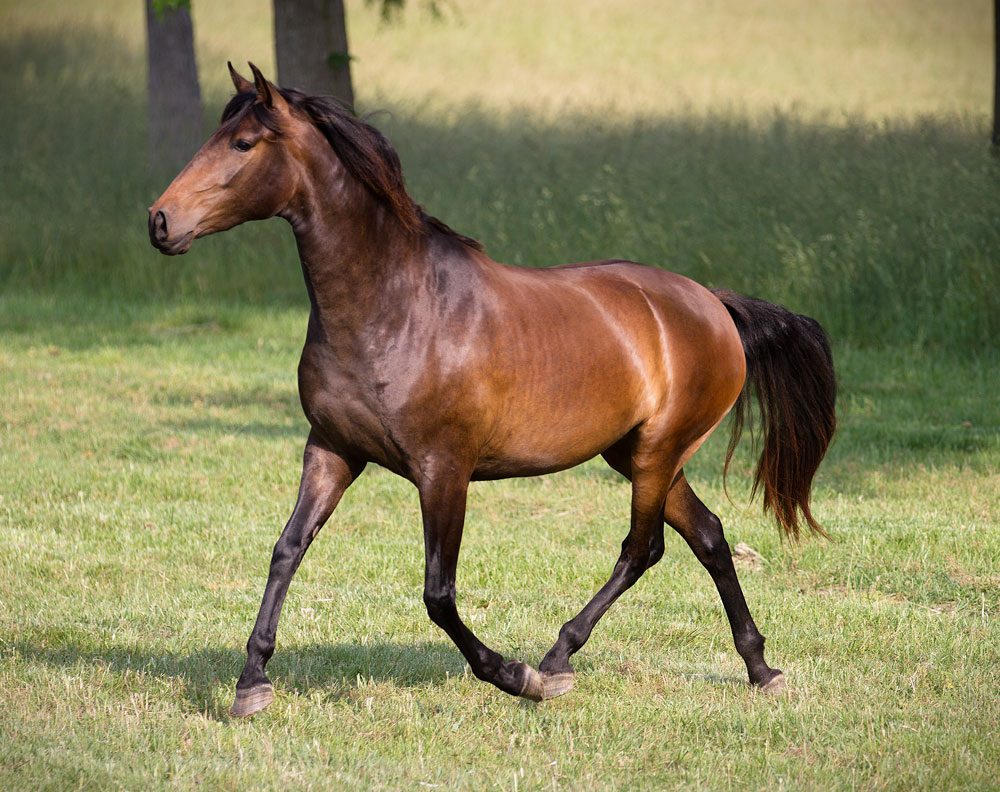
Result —
<instances>
[{"instance_id":1,"label":"thicker brown tree trunk directly behind the horse's ears and mane","mask_svg":"<svg viewBox=\"0 0 1000 792\"><path fill-rule=\"evenodd\" d=\"M278 82L354 107L343 0L274 0Z\"/></svg>"}]
</instances>

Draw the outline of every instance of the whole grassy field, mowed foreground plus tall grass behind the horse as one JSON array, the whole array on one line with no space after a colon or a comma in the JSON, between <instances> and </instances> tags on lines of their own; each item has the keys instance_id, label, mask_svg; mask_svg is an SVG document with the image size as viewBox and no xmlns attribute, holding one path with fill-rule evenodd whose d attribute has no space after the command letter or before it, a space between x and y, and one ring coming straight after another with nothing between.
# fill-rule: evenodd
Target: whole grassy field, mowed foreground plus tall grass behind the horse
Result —
<instances>
[{"instance_id":1,"label":"whole grassy field, mowed foreground plus tall grass behind the horse","mask_svg":"<svg viewBox=\"0 0 1000 792\"><path fill-rule=\"evenodd\" d=\"M194 0L206 132L269 3ZM1000 163L985 2L349 2L356 90L429 211L529 266L624 256L827 327L841 428L782 544L691 461L786 697L683 543L572 693L427 619L415 491L369 470L293 583L278 699L227 716L294 500L305 295L280 222L149 247L137 2L0 2L0 788L989 790L1000 775ZM666 9L666 10L665 10ZM606 578L597 463L474 485L459 607L537 663Z\"/></svg>"}]
</instances>

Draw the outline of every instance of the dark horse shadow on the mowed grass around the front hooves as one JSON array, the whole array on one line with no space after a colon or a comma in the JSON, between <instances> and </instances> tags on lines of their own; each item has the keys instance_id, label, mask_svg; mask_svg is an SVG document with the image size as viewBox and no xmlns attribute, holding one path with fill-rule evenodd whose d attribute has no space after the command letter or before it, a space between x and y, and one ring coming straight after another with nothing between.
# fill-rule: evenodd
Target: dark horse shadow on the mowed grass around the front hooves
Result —
<instances>
[{"instance_id":1,"label":"dark horse shadow on the mowed grass around the front hooves","mask_svg":"<svg viewBox=\"0 0 1000 792\"><path fill-rule=\"evenodd\" d=\"M191 652L138 646L95 646L86 639L58 646L15 641L8 651L27 662L53 668L103 670L122 677L152 677L177 689L189 711L215 720L229 718L242 648L206 647ZM4 654L7 654L5 651ZM286 647L268 665L276 687L286 693L350 698L362 685L391 682L401 687L442 684L466 672L457 650L444 642L389 641Z\"/></svg>"}]
</instances>

